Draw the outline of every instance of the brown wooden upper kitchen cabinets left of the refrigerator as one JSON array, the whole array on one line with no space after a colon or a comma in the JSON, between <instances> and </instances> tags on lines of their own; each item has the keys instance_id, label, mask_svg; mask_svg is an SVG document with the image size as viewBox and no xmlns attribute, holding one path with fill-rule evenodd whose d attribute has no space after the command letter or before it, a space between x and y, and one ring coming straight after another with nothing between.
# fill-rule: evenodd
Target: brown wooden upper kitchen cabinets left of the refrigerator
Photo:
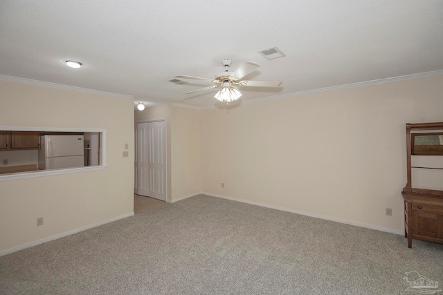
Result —
<instances>
[{"instance_id":1,"label":"brown wooden upper kitchen cabinets left of the refrigerator","mask_svg":"<svg viewBox=\"0 0 443 295\"><path fill-rule=\"evenodd\" d=\"M38 149L38 131L0 131L0 149Z\"/></svg>"}]
</instances>

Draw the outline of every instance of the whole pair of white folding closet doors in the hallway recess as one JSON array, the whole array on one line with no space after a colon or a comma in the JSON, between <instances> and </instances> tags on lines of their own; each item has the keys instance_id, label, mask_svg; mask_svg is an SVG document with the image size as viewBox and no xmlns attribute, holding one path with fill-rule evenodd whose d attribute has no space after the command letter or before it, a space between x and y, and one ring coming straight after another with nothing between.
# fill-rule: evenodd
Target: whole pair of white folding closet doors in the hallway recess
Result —
<instances>
[{"instance_id":1,"label":"whole pair of white folding closet doors in the hallway recess","mask_svg":"<svg viewBox=\"0 0 443 295\"><path fill-rule=\"evenodd\" d=\"M166 200L165 121L135 125L134 191Z\"/></svg>"}]
</instances>

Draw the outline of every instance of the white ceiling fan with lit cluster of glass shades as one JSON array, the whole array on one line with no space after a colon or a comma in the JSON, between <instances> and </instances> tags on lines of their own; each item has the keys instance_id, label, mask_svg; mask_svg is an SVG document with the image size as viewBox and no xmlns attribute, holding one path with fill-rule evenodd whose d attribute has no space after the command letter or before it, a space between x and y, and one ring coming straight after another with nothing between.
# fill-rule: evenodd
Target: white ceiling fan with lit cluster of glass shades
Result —
<instances>
[{"instance_id":1,"label":"white ceiling fan with lit cluster of glass shades","mask_svg":"<svg viewBox=\"0 0 443 295\"><path fill-rule=\"evenodd\" d=\"M248 61L237 70L230 72L228 70L229 66L233 63L232 59L221 59L221 65L224 66L225 71L217 74L215 79L201 78L201 77L193 77L187 75L177 75L175 76L178 79L190 79L190 80L199 80L206 81L208 83L215 83L215 85L211 85L205 88L199 88L194 91L188 91L185 94L195 93L197 91L204 91L212 88L217 88L221 86L221 90L215 94L215 98L220 102L233 102L239 97L242 96L242 93L237 91L235 86L258 86L258 87L278 87L282 84L282 82L278 81L248 81L242 80L243 77L252 73L256 70L260 64L257 64L253 61Z\"/></svg>"}]
</instances>

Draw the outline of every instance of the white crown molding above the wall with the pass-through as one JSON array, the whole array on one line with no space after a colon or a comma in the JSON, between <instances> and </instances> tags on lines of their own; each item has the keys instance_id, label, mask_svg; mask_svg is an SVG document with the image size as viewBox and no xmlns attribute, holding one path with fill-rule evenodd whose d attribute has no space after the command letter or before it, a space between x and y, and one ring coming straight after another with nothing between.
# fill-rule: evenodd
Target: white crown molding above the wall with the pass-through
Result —
<instances>
[{"instance_id":1,"label":"white crown molding above the wall with the pass-through","mask_svg":"<svg viewBox=\"0 0 443 295\"><path fill-rule=\"evenodd\" d=\"M1 74L0 74L0 80L6 81L6 82L17 82L17 83L30 84L30 85L35 85L35 86L57 88L57 89L63 89L63 90L67 90L67 91L79 91L82 93L107 95L107 96L113 96L113 97L120 97L120 98L124 98L124 99L134 98L132 95L126 95L126 94L121 94L121 93L99 91L99 90L94 90L94 89L89 89L89 88L69 86L69 85L57 84L57 83L51 83L51 82L43 82L43 81L38 81L38 80L33 80L33 79L13 77L13 76L8 76L8 75L1 75Z\"/></svg>"}]
</instances>

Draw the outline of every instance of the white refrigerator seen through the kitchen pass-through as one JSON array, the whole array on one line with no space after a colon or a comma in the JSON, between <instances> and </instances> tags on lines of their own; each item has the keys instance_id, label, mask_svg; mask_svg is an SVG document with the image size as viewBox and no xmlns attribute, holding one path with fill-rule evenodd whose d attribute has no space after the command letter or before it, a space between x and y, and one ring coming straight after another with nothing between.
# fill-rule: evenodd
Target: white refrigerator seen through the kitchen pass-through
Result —
<instances>
[{"instance_id":1,"label":"white refrigerator seen through the kitchen pass-through","mask_svg":"<svg viewBox=\"0 0 443 295\"><path fill-rule=\"evenodd\" d=\"M83 135L42 135L39 170L84 166Z\"/></svg>"}]
</instances>

